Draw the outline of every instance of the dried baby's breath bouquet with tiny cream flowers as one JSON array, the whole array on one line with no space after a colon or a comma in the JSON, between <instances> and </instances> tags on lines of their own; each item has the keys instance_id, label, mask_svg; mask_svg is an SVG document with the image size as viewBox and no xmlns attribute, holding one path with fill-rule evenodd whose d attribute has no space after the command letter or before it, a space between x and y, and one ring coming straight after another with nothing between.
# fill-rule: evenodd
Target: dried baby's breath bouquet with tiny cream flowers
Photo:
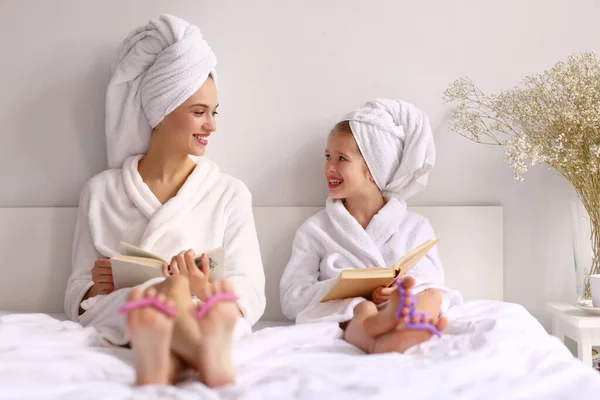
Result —
<instances>
[{"instance_id":1,"label":"dried baby's breath bouquet with tiny cream flowers","mask_svg":"<svg viewBox=\"0 0 600 400\"><path fill-rule=\"evenodd\" d=\"M547 164L573 185L592 223L591 273L600 273L600 60L596 54L573 54L499 94L484 94L463 77L448 86L443 99L456 103L450 130L477 143L504 146L504 159L516 180L523 180L529 166Z\"/></svg>"}]
</instances>

